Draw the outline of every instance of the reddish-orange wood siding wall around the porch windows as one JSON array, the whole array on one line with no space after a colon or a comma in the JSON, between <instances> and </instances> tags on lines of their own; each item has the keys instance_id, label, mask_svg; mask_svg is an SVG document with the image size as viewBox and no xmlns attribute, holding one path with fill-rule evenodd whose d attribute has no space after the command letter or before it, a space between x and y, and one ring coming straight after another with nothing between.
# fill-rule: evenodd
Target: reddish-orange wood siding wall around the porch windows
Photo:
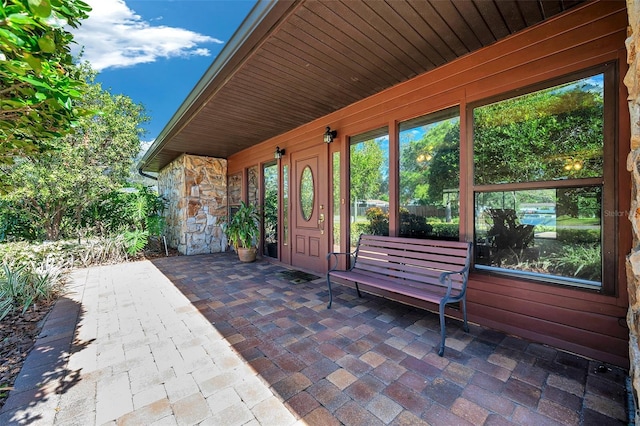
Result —
<instances>
[{"instance_id":1,"label":"reddish-orange wood siding wall around the porch windows","mask_svg":"<svg viewBox=\"0 0 640 426\"><path fill-rule=\"evenodd\" d=\"M398 122L452 106L461 111L461 227L460 238L473 240L473 161L470 129L466 126L467 104L511 93L521 88L578 72L605 62L618 67L615 170L617 211L629 211L630 176L625 168L629 153L626 73L627 12L624 2L589 2L549 21L515 34L431 72L382 91L367 99L314 120L231 156L230 173L246 173L256 164L273 158L276 146L286 150L281 166L292 153L322 144L326 126L338 130L330 154L348 158L349 136L387 127L390 144L397 139ZM394 164L390 154L390 200L397 200ZM348 176L348 164L341 174ZM293 178L293 177L292 177ZM393 179L391 179L393 178ZM327 183L328 184L328 183ZM341 179L341 192L348 194L348 179ZM343 195L343 197L346 195ZM346 203L348 204L348 203ZM340 206L343 219L346 204ZM393 206L392 206L393 207ZM393 218L391 218L393 219ZM342 251L347 251L348 220L342 220ZM391 229L393 234L394 230ZM631 225L616 223L617 262L615 288L609 293L585 291L548 283L526 281L473 271L469 279L468 313L473 322L547 343L617 365L629 363L629 330L625 258L631 249ZM451 315L458 315L455 311Z\"/></svg>"}]
</instances>

